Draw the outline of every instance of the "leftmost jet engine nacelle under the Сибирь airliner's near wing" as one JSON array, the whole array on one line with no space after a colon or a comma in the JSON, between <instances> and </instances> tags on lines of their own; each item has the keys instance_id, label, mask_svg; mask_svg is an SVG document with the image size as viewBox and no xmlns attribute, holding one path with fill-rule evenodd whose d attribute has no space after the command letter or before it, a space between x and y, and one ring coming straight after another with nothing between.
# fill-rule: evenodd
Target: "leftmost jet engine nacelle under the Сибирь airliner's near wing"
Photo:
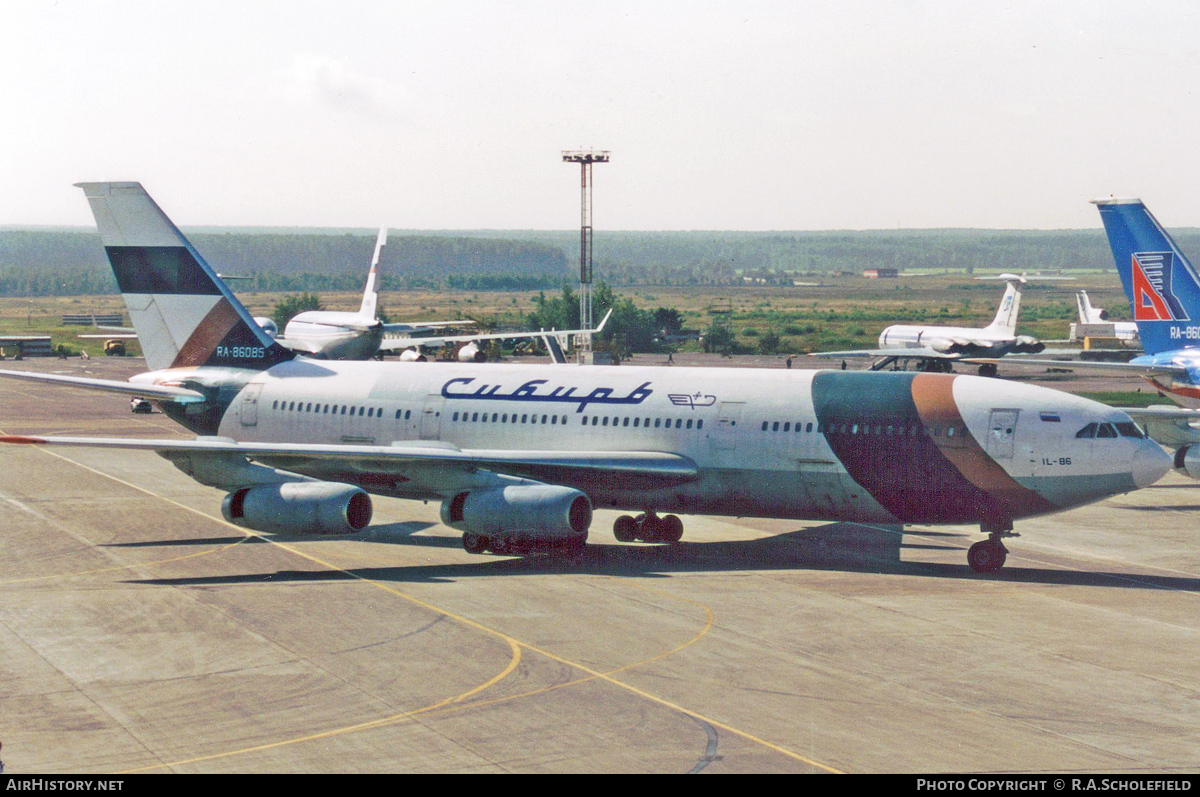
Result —
<instances>
[{"instance_id":1,"label":"leftmost jet engine nacelle under the \u0421\u0438\u0431\u0438\u0440\u044c airliner's near wing","mask_svg":"<svg viewBox=\"0 0 1200 797\"><path fill-rule=\"evenodd\" d=\"M234 490L221 514L259 532L353 534L371 522L371 497L348 484L288 481Z\"/></svg>"}]
</instances>

